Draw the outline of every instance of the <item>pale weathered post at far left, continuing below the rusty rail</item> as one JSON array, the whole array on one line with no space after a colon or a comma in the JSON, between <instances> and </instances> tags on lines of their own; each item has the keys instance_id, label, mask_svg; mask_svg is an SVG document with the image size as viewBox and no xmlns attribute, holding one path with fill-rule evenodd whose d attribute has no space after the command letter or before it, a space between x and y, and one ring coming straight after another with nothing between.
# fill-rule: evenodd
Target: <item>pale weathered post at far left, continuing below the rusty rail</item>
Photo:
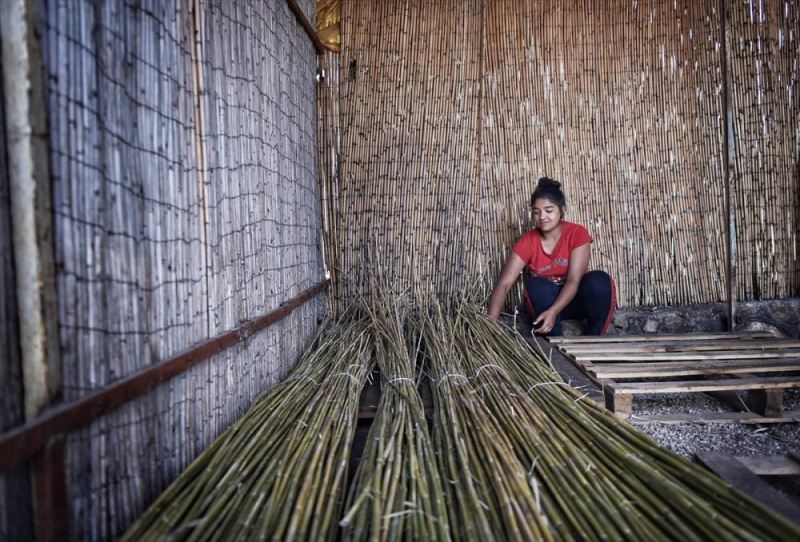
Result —
<instances>
[{"instance_id":1,"label":"pale weathered post at far left, continuing below the rusty rail","mask_svg":"<svg viewBox=\"0 0 800 542\"><path fill-rule=\"evenodd\" d=\"M28 421L56 400L61 390L50 149L38 4L36 0L0 2L5 115L5 149L0 148L0 152L7 151L8 155L19 346ZM48 446L34 462L37 540L67 537L64 473L63 443Z\"/></svg>"}]
</instances>

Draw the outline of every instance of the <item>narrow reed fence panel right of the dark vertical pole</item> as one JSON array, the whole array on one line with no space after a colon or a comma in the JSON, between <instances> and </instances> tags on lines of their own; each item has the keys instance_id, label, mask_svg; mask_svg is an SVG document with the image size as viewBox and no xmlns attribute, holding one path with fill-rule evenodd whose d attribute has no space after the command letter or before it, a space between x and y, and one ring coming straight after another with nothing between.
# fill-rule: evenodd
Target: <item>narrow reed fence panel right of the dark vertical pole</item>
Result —
<instances>
[{"instance_id":1,"label":"narrow reed fence panel right of the dark vertical pole","mask_svg":"<svg viewBox=\"0 0 800 542\"><path fill-rule=\"evenodd\" d=\"M731 2L737 295L800 295L800 2Z\"/></svg>"}]
</instances>

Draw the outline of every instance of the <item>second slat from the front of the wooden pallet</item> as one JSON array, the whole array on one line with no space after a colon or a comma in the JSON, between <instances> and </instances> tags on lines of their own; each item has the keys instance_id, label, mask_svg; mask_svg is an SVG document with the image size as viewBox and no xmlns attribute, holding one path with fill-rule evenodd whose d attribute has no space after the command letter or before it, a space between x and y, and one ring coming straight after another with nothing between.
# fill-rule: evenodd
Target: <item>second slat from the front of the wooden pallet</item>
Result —
<instances>
[{"instance_id":1,"label":"second slat from the front of the wooden pallet","mask_svg":"<svg viewBox=\"0 0 800 542\"><path fill-rule=\"evenodd\" d=\"M596 378L643 378L734 373L775 373L800 371L800 360L778 360L763 363L739 361L676 361L662 363L599 364L587 368ZM800 378L800 377L798 377Z\"/></svg>"}]
</instances>

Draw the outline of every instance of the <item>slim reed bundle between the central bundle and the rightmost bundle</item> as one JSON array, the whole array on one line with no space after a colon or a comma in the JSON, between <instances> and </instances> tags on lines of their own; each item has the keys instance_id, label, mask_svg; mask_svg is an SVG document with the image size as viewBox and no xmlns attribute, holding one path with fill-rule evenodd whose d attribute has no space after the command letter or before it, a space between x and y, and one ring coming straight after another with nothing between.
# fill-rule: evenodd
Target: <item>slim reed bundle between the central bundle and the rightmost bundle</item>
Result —
<instances>
[{"instance_id":1,"label":"slim reed bundle between the central bundle and the rightmost bundle","mask_svg":"<svg viewBox=\"0 0 800 542\"><path fill-rule=\"evenodd\" d=\"M464 540L551 540L535 482L518 461L507 428L477 396L436 303L416 322L433 377L434 443L446 477L450 525ZM531 484L534 485L531 485Z\"/></svg>"}]
</instances>

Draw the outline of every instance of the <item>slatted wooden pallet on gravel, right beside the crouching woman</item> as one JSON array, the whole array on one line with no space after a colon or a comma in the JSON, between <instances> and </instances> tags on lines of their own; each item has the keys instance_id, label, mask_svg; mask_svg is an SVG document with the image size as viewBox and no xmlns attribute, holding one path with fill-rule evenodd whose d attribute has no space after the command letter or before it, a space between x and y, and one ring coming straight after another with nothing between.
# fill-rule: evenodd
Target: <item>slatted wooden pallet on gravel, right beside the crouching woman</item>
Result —
<instances>
[{"instance_id":1,"label":"slatted wooden pallet on gravel, right beside the crouching woman","mask_svg":"<svg viewBox=\"0 0 800 542\"><path fill-rule=\"evenodd\" d=\"M553 337L550 342L603 388L606 407L624 418L635 395L747 391L749 410L765 423L797 420L798 413L782 412L784 390L800 388L797 340L739 332Z\"/></svg>"}]
</instances>

